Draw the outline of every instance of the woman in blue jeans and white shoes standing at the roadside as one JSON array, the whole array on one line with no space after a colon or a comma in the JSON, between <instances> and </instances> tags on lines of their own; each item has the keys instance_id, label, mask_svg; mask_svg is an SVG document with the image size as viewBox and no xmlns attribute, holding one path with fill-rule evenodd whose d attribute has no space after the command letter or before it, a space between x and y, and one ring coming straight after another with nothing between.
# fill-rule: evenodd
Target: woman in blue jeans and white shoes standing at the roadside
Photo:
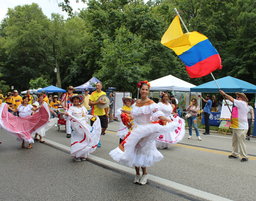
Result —
<instances>
[{"instance_id":1,"label":"woman in blue jeans and white shoes standing at the roadside","mask_svg":"<svg viewBox=\"0 0 256 201\"><path fill-rule=\"evenodd\" d=\"M188 139L192 138L192 125L196 131L196 135L198 137L198 140L201 141L202 139L200 138L199 135L199 130L197 127L197 113L199 110L199 105L197 103L197 99L193 98L191 99L190 105L186 108L186 111L189 111L191 114L191 117L187 118L187 124L188 124L188 131L189 131L189 137Z\"/></svg>"}]
</instances>

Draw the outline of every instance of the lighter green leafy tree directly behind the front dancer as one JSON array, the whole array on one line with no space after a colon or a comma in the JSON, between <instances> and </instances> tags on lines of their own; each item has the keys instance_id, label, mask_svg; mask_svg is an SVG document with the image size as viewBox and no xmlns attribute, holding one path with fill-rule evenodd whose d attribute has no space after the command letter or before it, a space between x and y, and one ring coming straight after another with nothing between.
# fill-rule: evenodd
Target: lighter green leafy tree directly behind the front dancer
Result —
<instances>
[{"instance_id":1,"label":"lighter green leafy tree directly behind the front dancer","mask_svg":"<svg viewBox=\"0 0 256 201\"><path fill-rule=\"evenodd\" d=\"M95 76L105 88L114 86L119 92L134 91L136 84L150 71L150 66L141 62L144 53L141 37L125 27L117 29L113 42L105 36L102 60L98 62L101 69Z\"/></svg>"}]
</instances>

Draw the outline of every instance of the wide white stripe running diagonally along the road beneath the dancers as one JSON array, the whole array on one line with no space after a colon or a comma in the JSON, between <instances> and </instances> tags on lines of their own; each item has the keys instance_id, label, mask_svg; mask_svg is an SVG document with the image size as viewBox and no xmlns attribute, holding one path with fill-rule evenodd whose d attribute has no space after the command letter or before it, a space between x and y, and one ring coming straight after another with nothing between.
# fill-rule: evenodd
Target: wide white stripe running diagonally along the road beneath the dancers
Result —
<instances>
[{"instance_id":1,"label":"wide white stripe running diagonally along the road beneath the dancers","mask_svg":"<svg viewBox=\"0 0 256 201\"><path fill-rule=\"evenodd\" d=\"M57 142L54 142L54 141L48 140L48 139L44 139L44 140L47 143L49 143L51 145L54 145L56 147L59 147L59 148L62 148L62 149L68 150L68 151L71 150L71 148L69 146L66 146L66 145L63 145L63 144L60 144L60 143L57 143ZM114 163L114 162L96 157L95 155L90 155L88 158L93 160L93 161L99 162L101 164L116 168L118 170L129 172L130 174L135 174L135 170L133 168L126 167L124 165L120 165L120 164L117 164L117 163ZM213 201L228 201L228 200L230 201L231 200L231 199L227 199L225 197L221 197L221 196L214 195L214 194L211 194L211 193L207 193L207 192L195 189L195 188L191 188L191 187L188 187L188 186L176 183L176 182L172 182L172 181L166 180L165 178L154 176L152 174L148 174L148 177L150 178L151 181L159 183L163 186L167 186L167 187L170 187L170 188L173 188L173 189L177 189L177 190L183 191L185 193L189 193L191 195L201 197L201 198L206 199L206 200L213 200Z\"/></svg>"}]
</instances>

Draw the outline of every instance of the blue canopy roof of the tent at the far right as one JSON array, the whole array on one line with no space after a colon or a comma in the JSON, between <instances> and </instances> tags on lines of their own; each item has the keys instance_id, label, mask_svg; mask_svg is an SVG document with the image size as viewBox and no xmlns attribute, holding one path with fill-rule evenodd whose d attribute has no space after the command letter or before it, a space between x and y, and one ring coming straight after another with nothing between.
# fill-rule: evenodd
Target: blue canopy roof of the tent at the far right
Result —
<instances>
[{"instance_id":1,"label":"blue canopy roof of the tent at the far right","mask_svg":"<svg viewBox=\"0 0 256 201\"><path fill-rule=\"evenodd\" d=\"M256 86L249 82L233 78L230 76L223 77L216 80L222 91L225 93L256 93ZM206 92L206 93L219 93L219 88L215 81L210 81L196 87L190 88L190 92Z\"/></svg>"}]
</instances>

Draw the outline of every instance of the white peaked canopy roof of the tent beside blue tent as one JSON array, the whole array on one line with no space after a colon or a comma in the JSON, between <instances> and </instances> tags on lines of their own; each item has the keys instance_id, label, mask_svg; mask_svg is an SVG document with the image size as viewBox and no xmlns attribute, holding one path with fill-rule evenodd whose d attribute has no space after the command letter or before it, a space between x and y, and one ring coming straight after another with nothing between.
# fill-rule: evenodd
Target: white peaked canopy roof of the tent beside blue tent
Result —
<instances>
[{"instance_id":1,"label":"white peaked canopy roof of the tent beside blue tent","mask_svg":"<svg viewBox=\"0 0 256 201\"><path fill-rule=\"evenodd\" d=\"M177 77L168 75L150 82L150 91L174 91L174 92L190 92L191 87L196 85L185 82Z\"/></svg>"}]
</instances>

